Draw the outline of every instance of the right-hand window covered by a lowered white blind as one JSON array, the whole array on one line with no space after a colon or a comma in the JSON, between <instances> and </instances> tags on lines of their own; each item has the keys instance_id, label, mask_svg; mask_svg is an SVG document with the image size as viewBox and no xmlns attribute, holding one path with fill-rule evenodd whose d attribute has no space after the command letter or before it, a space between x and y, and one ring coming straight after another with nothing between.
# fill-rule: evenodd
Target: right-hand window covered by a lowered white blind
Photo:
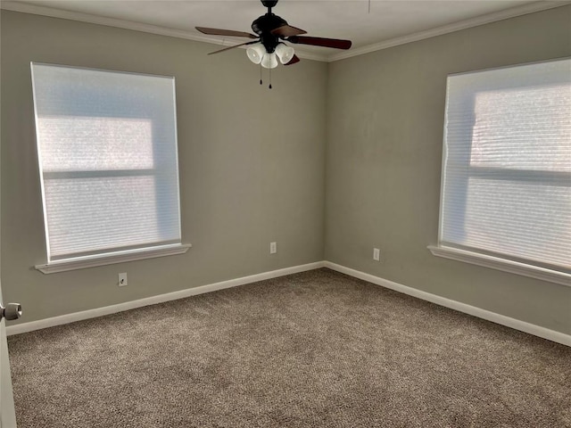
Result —
<instances>
[{"instance_id":1,"label":"right-hand window covered by a lowered white blind","mask_svg":"<svg viewBox=\"0 0 571 428\"><path fill-rule=\"evenodd\" d=\"M448 78L436 255L571 285L571 60Z\"/></svg>"}]
</instances>

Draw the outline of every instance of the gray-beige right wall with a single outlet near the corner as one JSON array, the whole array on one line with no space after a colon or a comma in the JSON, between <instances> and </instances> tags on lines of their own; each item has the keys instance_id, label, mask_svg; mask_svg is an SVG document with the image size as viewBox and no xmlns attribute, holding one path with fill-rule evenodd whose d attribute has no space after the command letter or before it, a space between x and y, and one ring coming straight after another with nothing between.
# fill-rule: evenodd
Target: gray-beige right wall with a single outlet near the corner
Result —
<instances>
[{"instance_id":1,"label":"gray-beige right wall with a single outlet near the corner","mask_svg":"<svg viewBox=\"0 0 571 428\"><path fill-rule=\"evenodd\" d=\"M438 234L446 76L571 55L570 24L565 6L330 64L326 259L571 333L571 287L426 249Z\"/></svg>"}]
</instances>

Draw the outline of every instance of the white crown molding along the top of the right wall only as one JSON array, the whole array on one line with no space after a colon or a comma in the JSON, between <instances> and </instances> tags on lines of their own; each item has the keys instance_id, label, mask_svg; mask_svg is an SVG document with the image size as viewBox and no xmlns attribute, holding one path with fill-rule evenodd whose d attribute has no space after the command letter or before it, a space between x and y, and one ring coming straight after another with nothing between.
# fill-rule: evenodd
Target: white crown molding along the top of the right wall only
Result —
<instances>
[{"instance_id":1,"label":"white crown molding along the top of the right wall only","mask_svg":"<svg viewBox=\"0 0 571 428\"><path fill-rule=\"evenodd\" d=\"M419 31L418 33L413 33L408 36L395 37L388 40L384 40L373 45L361 46L356 49L351 49L342 53L334 53L327 57L327 62L335 62L339 60L344 60L346 58L351 58L353 56L363 55L365 53L371 53L376 51L381 51L383 49L388 49L389 47L394 47L398 45L405 45L411 42L418 42L419 40L424 40L426 38L443 36L444 34L453 33L454 31L459 31L460 29L471 29L484 24L490 24L492 22L508 20L509 18L516 18L517 16L526 15L528 13L542 12L548 9L553 9L560 6L565 6L566 4L571 4L571 1L550 1L542 0L540 2L525 4L523 6L512 7L501 12L489 13L486 15L478 16L465 21L454 22L453 24L443 25L442 27L436 27L435 29L427 29L426 31Z\"/></svg>"}]
</instances>

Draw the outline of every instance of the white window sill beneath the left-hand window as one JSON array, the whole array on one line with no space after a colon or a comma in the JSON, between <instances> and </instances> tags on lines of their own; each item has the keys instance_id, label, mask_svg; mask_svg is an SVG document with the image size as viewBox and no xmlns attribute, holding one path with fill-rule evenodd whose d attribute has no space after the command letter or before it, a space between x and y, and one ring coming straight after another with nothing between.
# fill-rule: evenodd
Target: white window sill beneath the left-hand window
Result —
<instances>
[{"instance_id":1,"label":"white window sill beneath the left-hand window","mask_svg":"<svg viewBox=\"0 0 571 428\"><path fill-rule=\"evenodd\" d=\"M56 272L65 272L67 270L95 268L95 266L112 265L114 263L124 263L126 261L184 254L191 246L192 245L190 243L178 243L173 245L163 245L161 247L108 252L98 256L57 260L47 263L46 265L37 265L35 268L45 274L54 274Z\"/></svg>"}]
</instances>

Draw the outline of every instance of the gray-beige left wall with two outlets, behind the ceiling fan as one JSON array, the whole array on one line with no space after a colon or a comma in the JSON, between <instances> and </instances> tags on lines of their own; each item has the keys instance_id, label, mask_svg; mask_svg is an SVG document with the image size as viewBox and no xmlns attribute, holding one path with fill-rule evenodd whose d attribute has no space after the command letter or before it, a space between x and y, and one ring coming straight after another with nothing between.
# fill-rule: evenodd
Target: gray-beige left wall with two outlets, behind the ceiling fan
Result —
<instances>
[{"instance_id":1,"label":"gray-beige left wall with two outlets, behind the ceiling fan","mask_svg":"<svg viewBox=\"0 0 571 428\"><path fill-rule=\"evenodd\" d=\"M2 286L28 322L323 259L327 63L2 11ZM175 76L180 256L44 275L29 62ZM269 243L278 252L269 255ZM117 274L128 272L128 286Z\"/></svg>"}]
</instances>

